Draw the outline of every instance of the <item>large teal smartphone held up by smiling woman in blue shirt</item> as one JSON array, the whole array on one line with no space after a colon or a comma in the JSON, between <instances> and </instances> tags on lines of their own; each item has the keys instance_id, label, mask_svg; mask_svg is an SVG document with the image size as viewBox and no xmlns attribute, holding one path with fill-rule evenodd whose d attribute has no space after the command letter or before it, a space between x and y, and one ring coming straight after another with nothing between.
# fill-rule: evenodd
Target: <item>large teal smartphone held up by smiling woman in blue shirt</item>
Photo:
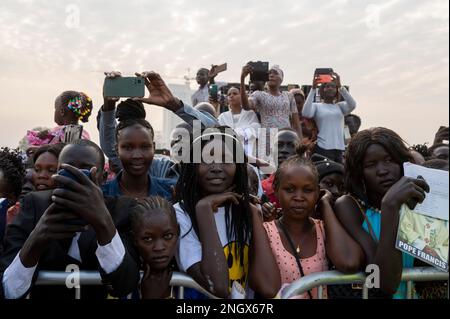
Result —
<instances>
[{"instance_id":1,"label":"large teal smartphone held up by smiling woman in blue shirt","mask_svg":"<svg viewBox=\"0 0 450 319\"><path fill-rule=\"evenodd\" d=\"M103 95L106 97L143 97L145 95L145 79L142 77L106 78L103 84Z\"/></svg>"}]
</instances>

